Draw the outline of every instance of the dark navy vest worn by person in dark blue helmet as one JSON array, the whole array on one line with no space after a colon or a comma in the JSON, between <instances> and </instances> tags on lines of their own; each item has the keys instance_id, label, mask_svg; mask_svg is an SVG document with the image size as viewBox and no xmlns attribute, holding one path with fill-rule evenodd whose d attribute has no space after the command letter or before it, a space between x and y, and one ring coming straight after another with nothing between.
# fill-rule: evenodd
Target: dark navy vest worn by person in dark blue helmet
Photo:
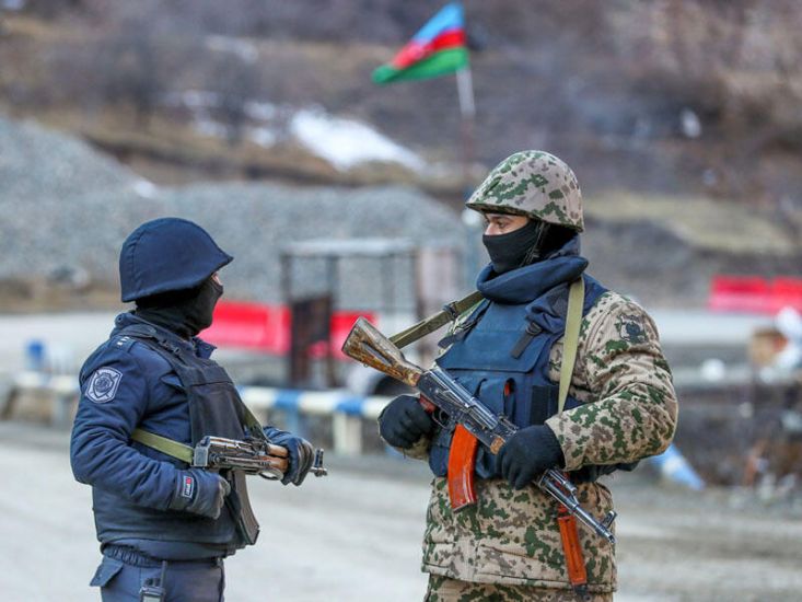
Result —
<instances>
[{"instance_id":1,"label":"dark navy vest worn by person in dark blue helmet","mask_svg":"<svg viewBox=\"0 0 802 602\"><path fill-rule=\"evenodd\" d=\"M131 324L120 329L117 340L136 339L164 358L184 387L191 428L191 444L205 436L244 439L249 433L243 425L245 408L231 378L214 360L200 358L147 324ZM170 459L179 468L186 464ZM124 537L158 541L182 541L226 544L242 548L256 542L256 522L242 471L221 472L232 486L225 506L217 520L189 512L163 511L146 508L114 494L94 488L95 523L98 539L114 541ZM111 499L104 499L111 497Z\"/></svg>"}]
</instances>

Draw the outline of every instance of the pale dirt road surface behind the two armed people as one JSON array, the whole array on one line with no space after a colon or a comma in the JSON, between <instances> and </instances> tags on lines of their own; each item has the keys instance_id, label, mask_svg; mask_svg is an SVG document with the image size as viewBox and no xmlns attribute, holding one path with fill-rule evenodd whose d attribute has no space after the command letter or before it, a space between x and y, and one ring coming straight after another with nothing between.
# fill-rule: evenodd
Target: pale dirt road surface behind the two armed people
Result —
<instances>
[{"instance_id":1,"label":"pale dirt road surface behind the two armed people","mask_svg":"<svg viewBox=\"0 0 802 602\"><path fill-rule=\"evenodd\" d=\"M98 600L90 488L72 481L66 431L0 422L0 592L9 602ZM226 560L226 600L421 600L429 477L412 461L332 459L301 488L252 482L255 547ZM731 491L691 494L615 477L619 602L788 601L802 592L802 512Z\"/></svg>"}]
</instances>

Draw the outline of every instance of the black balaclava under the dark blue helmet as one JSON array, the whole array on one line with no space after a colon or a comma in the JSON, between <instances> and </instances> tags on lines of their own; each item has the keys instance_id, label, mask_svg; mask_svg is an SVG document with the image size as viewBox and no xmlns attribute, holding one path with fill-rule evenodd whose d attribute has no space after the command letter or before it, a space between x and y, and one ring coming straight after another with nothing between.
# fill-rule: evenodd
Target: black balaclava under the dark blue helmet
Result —
<instances>
[{"instance_id":1,"label":"black balaclava under the dark blue helmet","mask_svg":"<svg viewBox=\"0 0 802 602\"><path fill-rule=\"evenodd\" d=\"M211 325L214 305L222 294L223 286L210 277L193 289L137 299L133 313L183 338L190 338Z\"/></svg>"}]
</instances>

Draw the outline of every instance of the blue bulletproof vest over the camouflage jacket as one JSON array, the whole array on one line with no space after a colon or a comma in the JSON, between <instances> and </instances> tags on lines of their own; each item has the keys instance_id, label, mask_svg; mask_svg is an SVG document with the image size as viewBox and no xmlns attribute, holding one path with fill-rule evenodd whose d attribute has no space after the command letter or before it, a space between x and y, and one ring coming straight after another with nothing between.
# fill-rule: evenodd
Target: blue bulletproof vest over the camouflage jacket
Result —
<instances>
[{"instance_id":1,"label":"blue bulletproof vest over the camouflage jacket","mask_svg":"<svg viewBox=\"0 0 802 602\"><path fill-rule=\"evenodd\" d=\"M589 276L585 279L583 314L606 289ZM559 383L548 378L551 347L565 334L568 287L560 285L545 296L546 303L535 306L549 314L549 332L538 326L542 321L533 315L530 303L505 304L483 301L461 324L457 332L441 345L449 349L437 359L474 396L497 415L507 416L516 426L525 428L543 425L557 414ZM579 406L570 395L565 409ZM445 476L449 450L455 424L440 421L429 454L429 465L437 476ZM585 466L572 473L574 482L595 481L611 466ZM479 447L476 458L479 478L500 477L496 456Z\"/></svg>"}]
</instances>

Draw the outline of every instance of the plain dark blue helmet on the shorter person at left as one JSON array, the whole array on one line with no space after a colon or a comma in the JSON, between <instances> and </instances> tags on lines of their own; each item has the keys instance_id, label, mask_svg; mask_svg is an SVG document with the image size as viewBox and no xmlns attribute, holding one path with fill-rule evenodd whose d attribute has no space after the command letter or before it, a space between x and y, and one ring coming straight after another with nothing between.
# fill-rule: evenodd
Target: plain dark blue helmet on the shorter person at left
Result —
<instances>
[{"instance_id":1,"label":"plain dark blue helmet on the shorter person at left","mask_svg":"<svg viewBox=\"0 0 802 602\"><path fill-rule=\"evenodd\" d=\"M197 223L179 218L144 222L119 252L123 301L197 287L232 259Z\"/></svg>"}]
</instances>

